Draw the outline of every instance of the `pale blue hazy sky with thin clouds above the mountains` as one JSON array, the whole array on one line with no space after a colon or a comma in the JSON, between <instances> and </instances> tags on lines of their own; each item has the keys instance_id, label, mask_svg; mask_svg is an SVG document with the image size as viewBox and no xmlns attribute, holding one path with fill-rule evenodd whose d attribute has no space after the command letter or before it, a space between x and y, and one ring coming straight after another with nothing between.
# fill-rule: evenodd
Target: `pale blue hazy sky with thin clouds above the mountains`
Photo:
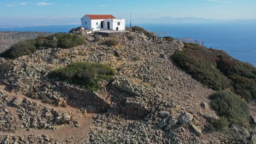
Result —
<instances>
[{"instance_id":1,"label":"pale blue hazy sky with thin clouds above the mountains","mask_svg":"<svg viewBox=\"0 0 256 144\"><path fill-rule=\"evenodd\" d=\"M80 19L84 14L116 18L162 16L207 19L256 19L256 0L1 0L0 24L18 19Z\"/></svg>"}]
</instances>

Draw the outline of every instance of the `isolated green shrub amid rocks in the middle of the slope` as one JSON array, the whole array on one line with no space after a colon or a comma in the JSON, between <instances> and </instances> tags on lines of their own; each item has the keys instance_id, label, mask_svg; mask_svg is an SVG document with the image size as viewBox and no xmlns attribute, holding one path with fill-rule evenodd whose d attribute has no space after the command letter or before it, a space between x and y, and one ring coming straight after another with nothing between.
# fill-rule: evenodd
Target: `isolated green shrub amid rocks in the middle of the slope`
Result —
<instances>
[{"instance_id":1,"label":"isolated green shrub amid rocks in the middle of the slope","mask_svg":"<svg viewBox=\"0 0 256 144\"><path fill-rule=\"evenodd\" d=\"M100 63L72 63L66 67L56 69L49 73L50 78L59 77L62 81L79 84L92 91L100 89L99 82L115 76L116 71Z\"/></svg>"}]
</instances>

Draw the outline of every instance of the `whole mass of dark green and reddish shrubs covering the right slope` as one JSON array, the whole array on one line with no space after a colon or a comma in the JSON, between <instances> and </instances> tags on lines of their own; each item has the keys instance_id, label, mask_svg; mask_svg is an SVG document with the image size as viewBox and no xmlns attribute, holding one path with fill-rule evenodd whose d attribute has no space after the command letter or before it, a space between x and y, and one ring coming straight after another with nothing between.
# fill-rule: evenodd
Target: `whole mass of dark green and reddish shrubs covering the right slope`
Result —
<instances>
[{"instance_id":1,"label":"whole mass of dark green and reddish shrubs covering the right slope","mask_svg":"<svg viewBox=\"0 0 256 144\"><path fill-rule=\"evenodd\" d=\"M182 51L174 53L173 60L197 81L217 91L231 89L247 101L256 98L256 68L252 64L221 50L184 44Z\"/></svg>"}]
</instances>

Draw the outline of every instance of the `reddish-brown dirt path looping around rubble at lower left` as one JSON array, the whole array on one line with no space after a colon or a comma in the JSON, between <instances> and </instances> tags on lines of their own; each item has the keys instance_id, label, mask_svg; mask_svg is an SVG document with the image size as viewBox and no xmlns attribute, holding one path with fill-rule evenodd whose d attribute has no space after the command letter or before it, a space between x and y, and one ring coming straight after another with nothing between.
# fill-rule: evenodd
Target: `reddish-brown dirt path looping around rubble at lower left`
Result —
<instances>
[{"instance_id":1,"label":"reddish-brown dirt path looping around rubble at lower left","mask_svg":"<svg viewBox=\"0 0 256 144\"><path fill-rule=\"evenodd\" d=\"M58 111L64 111L67 113L72 112L73 113L72 116L74 117L74 119L77 119L79 121L79 123L81 124L81 126L78 128L67 124L67 125L58 126L56 130L39 130L39 129L33 128L33 129L31 129L31 131L27 131L26 129L21 129L16 132L1 132L1 135L2 134L3 135L4 134L7 134L7 135L13 134L13 135L18 135L18 136L25 136L25 135L35 134L36 136L37 135L39 136L41 134L45 134L45 135L48 135L49 138L52 138L52 139L54 139L56 141L60 141L60 142L70 139L71 140L70 143L82 143L85 138L88 139L88 133L89 133L90 127L92 126L92 123L94 121L92 119L92 117L96 116L97 114L89 114L88 113L86 115L83 115L82 113L79 112L79 108L73 108L70 106L67 106L65 108L54 107L49 104L44 104L40 100L34 100L31 98L28 98L23 94L11 93L10 89L5 85L0 85L0 89L6 95L9 96L9 99L8 99L9 102L16 97L27 98L28 100L35 101L35 102L39 103L40 105L47 107L47 108L54 108ZM19 124L21 122L20 122L20 119L15 111L15 107L12 107L12 106L7 106L7 107L10 110L10 113L15 117L16 122L18 123L18 126L19 126Z\"/></svg>"}]
</instances>

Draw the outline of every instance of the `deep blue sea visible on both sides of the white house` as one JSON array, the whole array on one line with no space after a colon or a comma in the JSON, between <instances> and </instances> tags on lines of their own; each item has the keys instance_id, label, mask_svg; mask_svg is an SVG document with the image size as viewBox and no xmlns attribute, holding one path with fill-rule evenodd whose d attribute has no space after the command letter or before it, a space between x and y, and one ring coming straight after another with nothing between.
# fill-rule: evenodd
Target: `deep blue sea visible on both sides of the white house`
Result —
<instances>
[{"instance_id":1,"label":"deep blue sea visible on both sides of the white house","mask_svg":"<svg viewBox=\"0 0 256 144\"><path fill-rule=\"evenodd\" d=\"M158 36L200 39L206 47L224 50L234 58L256 66L256 23L138 23L133 25L152 32L163 33ZM79 25L0 28L0 31L68 32L71 28L76 27Z\"/></svg>"}]
</instances>

